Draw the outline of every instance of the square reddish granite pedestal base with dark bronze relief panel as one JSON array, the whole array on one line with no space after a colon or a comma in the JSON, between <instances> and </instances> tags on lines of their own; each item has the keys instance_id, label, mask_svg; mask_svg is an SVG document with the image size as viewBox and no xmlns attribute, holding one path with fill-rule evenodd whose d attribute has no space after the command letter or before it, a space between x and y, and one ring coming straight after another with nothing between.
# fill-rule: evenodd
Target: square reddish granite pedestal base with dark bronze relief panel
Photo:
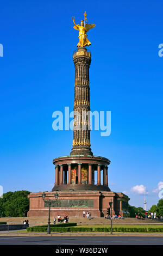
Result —
<instances>
[{"instance_id":1,"label":"square reddish granite pedestal base with dark bronze relief panel","mask_svg":"<svg viewBox=\"0 0 163 256\"><path fill-rule=\"evenodd\" d=\"M48 199L52 200L51 216L53 217L58 215L61 218L65 215L83 217L83 211L90 211L91 217L105 217L111 200L113 202L112 215L123 216L124 210L127 211L129 200L125 194L111 191L59 191L58 199L54 198L55 192L46 192L45 200L42 199L42 193L29 194L30 209L27 216L48 216Z\"/></svg>"}]
</instances>

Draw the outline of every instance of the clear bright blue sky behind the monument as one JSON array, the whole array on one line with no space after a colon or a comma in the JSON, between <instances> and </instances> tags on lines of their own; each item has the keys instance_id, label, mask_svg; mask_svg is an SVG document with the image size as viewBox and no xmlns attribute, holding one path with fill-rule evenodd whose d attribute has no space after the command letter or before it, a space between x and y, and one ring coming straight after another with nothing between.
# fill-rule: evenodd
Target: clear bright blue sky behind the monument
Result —
<instances>
[{"instance_id":1,"label":"clear bright blue sky behind the monument","mask_svg":"<svg viewBox=\"0 0 163 256\"><path fill-rule=\"evenodd\" d=\"M94 155L110 159L109 186L147 208L162 179L162 1L1 3L1 180L4 192L51 191L52 160L70 154L72 131L54 131L52 113L73 110L77 23L87 13L92 45L91 110L111 111L111 135L91 132Z\"/></svg>"}]
</instances>

